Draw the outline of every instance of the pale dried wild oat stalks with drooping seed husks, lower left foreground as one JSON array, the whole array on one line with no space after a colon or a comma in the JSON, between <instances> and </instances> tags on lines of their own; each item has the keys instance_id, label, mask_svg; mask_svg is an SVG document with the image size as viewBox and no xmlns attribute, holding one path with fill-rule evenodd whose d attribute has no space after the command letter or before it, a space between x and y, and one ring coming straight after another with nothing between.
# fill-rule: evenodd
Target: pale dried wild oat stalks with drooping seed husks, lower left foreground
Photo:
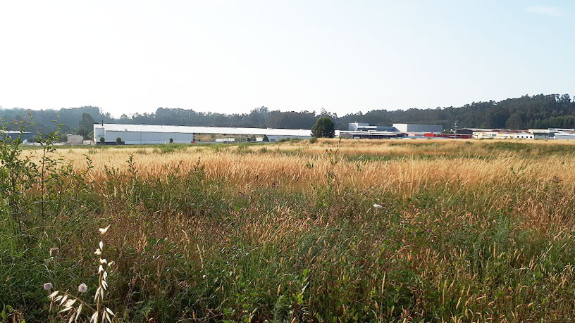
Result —
<instances>
[{"instance_id":1,"label":"pale dried wild oat stalks with drooping seed husks, lower left foreground","mask_svg":"<svg viewBox=\"0 0 575 323\"><path fill-rule=\"evenodd\" d=\"M110 226L105 228L100 228L99 232L101 236L104 236ZM94 304L90 305L84 300L80 299L78 296L86 293L88 291L88 286L84 283L78 286L78 296L72 296L68 291L61 293L61 291L54 291L48 297L50 298L50 312L54 306L61 307L62 309L58 313L68 312L68 322L78 322L78 317L84 308L92 310L92 316L90 317L90 323L98 322L112 322L115 314L110 310L110 308L104 307L104 291L108 289L108 272L111 270L113 261L108 261L103 258L104 251L104 241L98 243L98 248L94 252L94 255L98 256L98 286L96 293L94 295ZM50 291L52 289L51 283L44 284L44 290Z\"/></svg>"}]
</instances>

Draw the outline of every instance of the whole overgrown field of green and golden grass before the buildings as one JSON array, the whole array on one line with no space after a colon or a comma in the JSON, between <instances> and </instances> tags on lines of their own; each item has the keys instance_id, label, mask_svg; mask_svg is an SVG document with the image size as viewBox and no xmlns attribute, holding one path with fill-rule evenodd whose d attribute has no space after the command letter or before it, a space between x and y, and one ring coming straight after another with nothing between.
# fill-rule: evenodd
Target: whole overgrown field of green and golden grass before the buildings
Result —
<instances>
[{"instance_id":1,"label":"whole overgrown field of green and golden grass before the buildings","mask_svg":"<svg viewBox=\"0 0 575 323\"><path fill-rule=\"evenodd\" d=\"M104 304L114 322L575 320L575 142L0 157L4 322L68 322L82 302L78 322ZM99 261L109 286L94 301ZM58 312L54 291L78 301Z\"/></svg>"}]
</instances>

